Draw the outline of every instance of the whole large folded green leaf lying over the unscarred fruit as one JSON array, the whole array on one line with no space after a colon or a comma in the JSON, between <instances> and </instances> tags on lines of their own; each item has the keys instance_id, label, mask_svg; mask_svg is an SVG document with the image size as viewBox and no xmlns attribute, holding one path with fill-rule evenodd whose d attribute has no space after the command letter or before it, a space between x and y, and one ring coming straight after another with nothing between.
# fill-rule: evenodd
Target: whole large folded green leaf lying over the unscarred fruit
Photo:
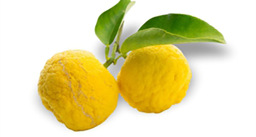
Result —
<instances>
[{"instance_id":1,"label":"whole large folded green leaf lying over the unscarred fruit","mask_svg":"<svg viewBox=\"0 0 256 137\"><path fill-rule=\"evenodd\" d=\"M128 37L121 53L151 45L190 42L226 43L223 35L208 23L185 14L167 14L148 20L138 32Z\"/></svg>"}]
</instances>

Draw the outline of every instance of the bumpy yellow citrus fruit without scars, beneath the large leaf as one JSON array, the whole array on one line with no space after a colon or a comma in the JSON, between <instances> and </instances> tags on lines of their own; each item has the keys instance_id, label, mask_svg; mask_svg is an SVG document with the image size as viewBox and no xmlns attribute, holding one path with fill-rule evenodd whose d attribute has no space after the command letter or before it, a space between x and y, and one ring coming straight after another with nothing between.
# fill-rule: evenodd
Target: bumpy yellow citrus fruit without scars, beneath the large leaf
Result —
<instances>
[{"instance_id":1,"label":"bumpy yellow citrus fruit without scars, beneath the large leaf","mask_svg":"<svg viewBox=\"0 0 256 137\"><path fill-rule=\"evenodd\" d=\"M192 77L187 59L174 45L133 50L117 77L121 96L140 112L160 113L180 103Z\"/></svg>"}]
</instances>

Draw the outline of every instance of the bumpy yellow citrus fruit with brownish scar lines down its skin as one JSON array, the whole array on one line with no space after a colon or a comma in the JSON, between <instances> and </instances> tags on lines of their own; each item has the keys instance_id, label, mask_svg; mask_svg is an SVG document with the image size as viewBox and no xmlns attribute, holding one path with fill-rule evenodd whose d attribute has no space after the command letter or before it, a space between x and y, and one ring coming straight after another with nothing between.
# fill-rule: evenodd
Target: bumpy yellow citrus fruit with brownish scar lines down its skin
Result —
<instances>
[{"instance_id":1,"label":"bumpy yellow citrus fruit with brownish scar lines down its skin","mask_svg":"<svg viewBox=\"0 0 256 137\"><path fill-rule=\"evenodd\" d=\"M91 129L115 110L119 89L109 71L84 50L68 50L49 59L38 83L43 105L67 128Z\"/></svg>"}]
</instances>

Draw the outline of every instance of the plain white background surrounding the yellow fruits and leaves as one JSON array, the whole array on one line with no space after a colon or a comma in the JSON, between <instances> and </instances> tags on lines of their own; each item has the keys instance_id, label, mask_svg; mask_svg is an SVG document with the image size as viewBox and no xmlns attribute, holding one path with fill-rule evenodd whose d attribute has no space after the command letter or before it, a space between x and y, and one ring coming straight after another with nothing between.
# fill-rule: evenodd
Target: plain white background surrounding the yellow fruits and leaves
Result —
<instances>
[{"instance_id":1,"label":"plain white background surrounding the yellow fruits and leaves","mask_svg":"<svg viewBox=\"0 0 256 137\"><path fill-rule=\"evenodd\" d=\"M184 13L210 23L227 44L177 45L193 72L180 104L145 114L119 97L104 123L83 132L67 129L44 108L37 81L47 59L64 50L89 50L104 63L94 27L118 0L0 2L1 137L256 136L255 0L137 0L125 18L122 41L154 16ZM109 67L115 78L123 62Z\"/></svg>"}]
</instances>

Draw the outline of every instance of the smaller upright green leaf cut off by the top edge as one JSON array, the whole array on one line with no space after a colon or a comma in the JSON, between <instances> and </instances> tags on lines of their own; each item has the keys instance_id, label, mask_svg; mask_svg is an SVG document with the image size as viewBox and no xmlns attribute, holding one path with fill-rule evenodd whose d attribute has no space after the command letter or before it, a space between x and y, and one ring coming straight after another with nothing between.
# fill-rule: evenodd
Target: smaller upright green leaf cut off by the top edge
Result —
<instances>
[{"instance_id":1,"label":"smaller upright green leaf cut off by the top edge","mask_svg":"<svg viewBox=\"0 0 256 137\"><path fill-rule=\"evenodd\" d=\"M114 41L124 15L134 4L135 2L130 0L120 0L115 6L99 16L95 33L102 43L108 46Z\"/></svg>"}]
</instances>

